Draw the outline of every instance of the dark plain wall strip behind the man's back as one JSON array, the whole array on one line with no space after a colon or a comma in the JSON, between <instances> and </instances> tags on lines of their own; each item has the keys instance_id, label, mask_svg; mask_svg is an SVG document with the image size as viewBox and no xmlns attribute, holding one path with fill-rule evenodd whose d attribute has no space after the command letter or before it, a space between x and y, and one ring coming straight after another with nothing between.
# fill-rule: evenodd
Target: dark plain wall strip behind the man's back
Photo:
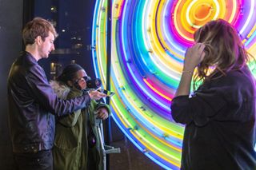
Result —
<instances>
[{"instance_id":1,"label":"dark plain wall strip behind the man's back","mask_svg":"<svg viewBox=\"0 0 256 170\"><path fill-rule=\"evenodd\" d=\"M22 0L0 0L0 168L13 169L8 128L7 76L22 49Z\"/></svg>"}]
</instances>

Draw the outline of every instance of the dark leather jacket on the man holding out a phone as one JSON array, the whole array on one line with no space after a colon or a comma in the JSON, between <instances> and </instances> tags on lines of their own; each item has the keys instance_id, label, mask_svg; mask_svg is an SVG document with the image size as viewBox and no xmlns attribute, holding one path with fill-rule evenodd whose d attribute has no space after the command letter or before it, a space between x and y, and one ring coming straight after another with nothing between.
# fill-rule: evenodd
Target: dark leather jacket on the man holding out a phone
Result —
<instances>
[{"instance_id":1,"label":"dark leather jacket on the man holding out a phone","mask_svg":"<svg viewBox=\"0 0 256 170\"><path fill-rule=\"evenodd\" d=\"M85 94L69 101L58 99L42 67L25 52L11 66L8 101L13 152L38 152L53 147L54 116L86 107L90 96Z\"/></svg>"}]
</instances>

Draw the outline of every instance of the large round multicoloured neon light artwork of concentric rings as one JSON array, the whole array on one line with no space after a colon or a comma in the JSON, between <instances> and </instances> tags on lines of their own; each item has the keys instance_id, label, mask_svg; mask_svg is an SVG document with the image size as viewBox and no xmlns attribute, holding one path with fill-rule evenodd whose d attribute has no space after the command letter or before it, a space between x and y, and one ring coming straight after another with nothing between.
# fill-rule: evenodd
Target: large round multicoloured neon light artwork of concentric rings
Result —
<instances>
[{"instance_id":1,"label":"large round multicoloured neon light artwork of concentric rings","mask_svg":"<svg viewBox=\"0 0 256 170\"><path fill-rule=\"evenodd\" d=\"M241 34L256 56L255 0L113 0L110 105L122 132L165 169L179 169L184 127L170 117L186 48L194 31L218 18ZM94 71L106 88L107 1L95 2ZM256 75L256 73L254 73Z\"/></svg>"}]
</instances>

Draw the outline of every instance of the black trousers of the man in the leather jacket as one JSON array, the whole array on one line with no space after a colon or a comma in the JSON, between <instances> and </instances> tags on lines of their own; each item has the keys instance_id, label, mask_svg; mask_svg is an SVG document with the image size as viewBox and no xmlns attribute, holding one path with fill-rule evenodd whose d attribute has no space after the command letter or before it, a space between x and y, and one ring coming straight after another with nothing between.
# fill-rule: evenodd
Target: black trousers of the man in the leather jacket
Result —
<instances>
[{"instance_id":1,"label":"black trousers of the man in the leather jacket","mask_svg":"<svg viewBox=\"0 0 256 170\"><path fill-rule=\"evenodd\" d=\"M14 153L17 170L53 170L53 155L51 150L36 153Z\"/></svg>"}]
</instances>

